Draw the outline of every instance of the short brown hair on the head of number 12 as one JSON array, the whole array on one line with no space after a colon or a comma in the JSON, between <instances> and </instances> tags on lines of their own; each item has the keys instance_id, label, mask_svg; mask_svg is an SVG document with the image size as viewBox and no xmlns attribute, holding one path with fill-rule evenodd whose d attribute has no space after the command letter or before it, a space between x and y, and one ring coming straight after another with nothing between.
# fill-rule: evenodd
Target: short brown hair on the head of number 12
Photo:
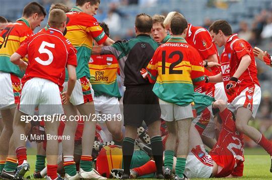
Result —
<instances>
[{"instance_id":1,"label":"short brown hair on the head of number 12","mask_svg":"<svg viewBox=\"0 0 272 180\"><path fill-rule=\"evenodd\" d=\"M171 20L170 29L173 35L180 35L188 27L185 18L181 16L174 16Z\"/></svg>"}]
</instances>

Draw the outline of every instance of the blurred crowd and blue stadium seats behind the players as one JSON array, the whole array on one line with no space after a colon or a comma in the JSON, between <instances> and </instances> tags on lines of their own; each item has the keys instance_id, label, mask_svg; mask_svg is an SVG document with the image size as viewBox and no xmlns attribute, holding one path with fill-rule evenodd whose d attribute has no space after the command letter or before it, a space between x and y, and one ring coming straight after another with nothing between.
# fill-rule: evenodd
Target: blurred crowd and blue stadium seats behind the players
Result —
<instances>
[{"instance_id":1,"label":"blurred crowd and blue stadium seats behind the players","mask_svg":"<svg viewBox=\"0 0 272 180\"><path fill-rule=\"evenodd\" d=\"M21 17L23 7L29 0L0 0L0 16L15 22ZM74 0L38 0L47 12L52 3L62 3L72 8ZM101 0L95 18L109 25L114 40L130 39L134 34L134 17L138 13L167 15L177 11L188 23L209 28L213 21L227 20L240 38L272 54L272 1L270 0ZM46 25L47 18L40 28ZM37 28L36 31L39 31ZM222 48L220 52L222 52ZM272 141L272 68L256 60L262 99L256 121L250 122ZM123 88L120 85L120 91ZM245 138L246 145L256 144Z\"/></svg>"}]
</instances>

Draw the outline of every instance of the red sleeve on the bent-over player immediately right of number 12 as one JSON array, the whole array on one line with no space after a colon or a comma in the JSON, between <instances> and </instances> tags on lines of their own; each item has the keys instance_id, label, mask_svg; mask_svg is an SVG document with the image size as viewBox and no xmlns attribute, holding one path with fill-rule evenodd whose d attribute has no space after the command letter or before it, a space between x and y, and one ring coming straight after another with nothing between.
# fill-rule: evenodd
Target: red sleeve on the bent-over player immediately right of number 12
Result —
<instances>
[{"instance_id":1,"label":"red sleeve on the bent-over player immediately right of number 12","mask_svg":"<svg viewBox=\"0 0 272 180\"><path fill-rule=\"evenodd\" d=\"M207 59L210 55L217 54L217 49L212 42L212 37L204 28L195 35L195 47L205 59Z\"/></svg>"}]
</instances>

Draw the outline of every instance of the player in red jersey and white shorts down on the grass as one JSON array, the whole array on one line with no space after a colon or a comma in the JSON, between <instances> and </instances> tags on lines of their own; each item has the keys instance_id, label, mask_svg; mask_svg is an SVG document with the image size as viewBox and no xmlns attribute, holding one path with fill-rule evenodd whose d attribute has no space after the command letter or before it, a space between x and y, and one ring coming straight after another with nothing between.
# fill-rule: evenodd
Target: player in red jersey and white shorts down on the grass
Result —
<instances>
[{"instance_id":1,"label":"player in red jersey and white shorts down on the grass","mask_svg":"<svg viewBox=\"0 0 272 180\"><path fill-rule=\"evenodd\" d=\"M209 177L241 177L243 175L244 149L242 134L235 127L234 114L227 108L223 100L213 103L217 119L217 128L221 131L218 142L208 154L203 142L191 125L189 134L190 152L187 157L184 175L188 178ZM218 111L218 110L217 110ZM175 167L176 158L172 162ZM131 178L155 172L156 166L151 160L145 165L133 168L130 172ZM172 168L175 171L175 168ZM119 177L121 169L113 169L113 177Z\"/></svg>"}]
</instances>

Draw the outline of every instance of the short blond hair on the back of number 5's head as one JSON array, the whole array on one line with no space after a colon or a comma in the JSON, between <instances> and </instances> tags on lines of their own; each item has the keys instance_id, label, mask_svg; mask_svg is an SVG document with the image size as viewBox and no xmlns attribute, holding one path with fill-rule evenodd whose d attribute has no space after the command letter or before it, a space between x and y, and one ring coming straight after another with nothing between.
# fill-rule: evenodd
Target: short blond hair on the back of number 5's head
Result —
<instances>
[{"instance_id":1,"label":"short blond hair on the back of number 5's head","mask_svg":"<svg viewBox=\"0 0 272 180\"><path fill-rule=\"evenodd\" d=\"M54 9L50 11L48 24L52 28L60 28L62 24L66 21L66 14L63 10Z\"/></svg>"}]
</instances>

